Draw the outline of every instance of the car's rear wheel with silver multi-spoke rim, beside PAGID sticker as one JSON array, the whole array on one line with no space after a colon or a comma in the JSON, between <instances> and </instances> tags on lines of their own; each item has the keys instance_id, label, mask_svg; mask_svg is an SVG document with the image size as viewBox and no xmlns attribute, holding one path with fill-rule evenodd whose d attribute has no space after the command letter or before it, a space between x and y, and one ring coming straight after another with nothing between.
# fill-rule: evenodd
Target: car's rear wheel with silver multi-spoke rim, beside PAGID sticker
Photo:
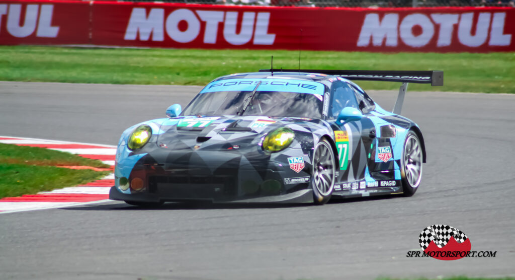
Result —
<instances>
[{"instance_id":1,"label":"car's rear wheel with silver multi-spoke rim, beside PAGID sticker","mask_svg":"<svg viewBox=\"0 0 515 280\"><path fill-rule=\"evenodd\" d=\"M401 178L404 196L415 194L422 179L422 145L417 134L410 130L404 141L401 157Z\"/></svg>"}]
</instances>

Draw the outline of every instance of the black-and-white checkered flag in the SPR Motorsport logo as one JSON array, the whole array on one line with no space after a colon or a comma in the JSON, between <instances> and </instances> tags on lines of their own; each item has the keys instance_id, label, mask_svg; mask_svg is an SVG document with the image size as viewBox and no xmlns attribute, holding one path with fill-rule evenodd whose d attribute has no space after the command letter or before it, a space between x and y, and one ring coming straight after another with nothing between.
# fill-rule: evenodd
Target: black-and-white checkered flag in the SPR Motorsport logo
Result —
<instances>
[{"instance_id":1,"label":"black-and-white checkered flag in the SPR Motorsport logo","mask_svg":"<svg viewBox=\"0 0 515 280\"><path fill-rule=\"evenodd\" d=\"M424 228L420 233L419 242L423 250L427 249L431 241L434 241L438 248L443 248L447 242L454 237L458 243L467 240L467 236L461 230L449 225L432 225Z\"/></svg>"}]
</instances>

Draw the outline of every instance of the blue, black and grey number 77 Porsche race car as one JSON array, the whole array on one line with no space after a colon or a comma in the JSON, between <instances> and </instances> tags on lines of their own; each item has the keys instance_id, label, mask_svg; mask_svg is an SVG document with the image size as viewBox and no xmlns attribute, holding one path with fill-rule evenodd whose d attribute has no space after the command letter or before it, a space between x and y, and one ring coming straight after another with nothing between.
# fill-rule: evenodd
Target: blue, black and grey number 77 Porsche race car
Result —
<instances>
[{"instance_id":1,"label":"blue, black and grey number 77 Porsche race car","mask_svg":"<svg viewBox=\"0 0 515 280\"><path fill-rule=\"evenodd\" d=\"M351 80L403 83L392 112ZM222 76L182 110L129 127L109 197L164 202L315 203L413 195L426 161L418 125L399 116L408 83L442 71L279 70Z\"/></svg>"}]
</instances>

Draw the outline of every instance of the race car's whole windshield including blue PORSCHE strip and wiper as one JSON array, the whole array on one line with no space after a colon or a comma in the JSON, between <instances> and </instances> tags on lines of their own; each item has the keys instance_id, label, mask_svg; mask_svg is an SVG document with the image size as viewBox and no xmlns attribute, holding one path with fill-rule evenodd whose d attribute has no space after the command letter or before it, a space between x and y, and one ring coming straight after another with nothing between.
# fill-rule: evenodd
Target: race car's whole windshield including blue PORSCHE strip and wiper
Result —
<instances>
[{"instance_id":1,"label":"race car's whole windshield including blue PORSCHE strip and wiper","mask_svg":"<svg viewBox=\"0 0 515 280\"><path fill-rule=\"evenodd\" d=\"M283 79L233 79L214 83L194 98L182 116L236 115L239 112L242 116L321 118L324 87L319 83ZM252 101L243 111L245 101L256 86Z\"/></svg>"}]
</instances>

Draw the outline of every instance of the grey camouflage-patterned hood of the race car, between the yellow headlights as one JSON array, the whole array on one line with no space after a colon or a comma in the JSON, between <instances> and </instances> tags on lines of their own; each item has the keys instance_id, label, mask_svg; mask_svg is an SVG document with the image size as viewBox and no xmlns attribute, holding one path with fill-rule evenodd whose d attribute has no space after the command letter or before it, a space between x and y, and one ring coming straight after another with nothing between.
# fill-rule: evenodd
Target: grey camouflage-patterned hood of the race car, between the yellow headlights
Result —
<instances>
[{"instance_id":1,"label":"grey camouflage-patterned hood of the race car, between the yellow headlights","mask_svg":"<svg viewBox=\"0 0 515 280\"><path fill-rule=\"evenodd\" d=\"M309 119L262 116L178 117L161 125L157 144L173 150L231 150L255 147L262 136L282 126L296 126Z\"/></svg>"}]
</instances>

